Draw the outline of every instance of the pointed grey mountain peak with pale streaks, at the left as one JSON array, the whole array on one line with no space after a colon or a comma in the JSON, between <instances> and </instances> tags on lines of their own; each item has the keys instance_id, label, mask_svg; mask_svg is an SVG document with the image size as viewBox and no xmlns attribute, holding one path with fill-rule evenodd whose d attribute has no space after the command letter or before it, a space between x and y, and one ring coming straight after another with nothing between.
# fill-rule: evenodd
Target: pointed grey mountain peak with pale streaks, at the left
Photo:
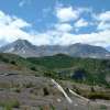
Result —
<instances>
[{"instance_id":1,"label":"pointed grey mountain peak with pale streaks, at the left","mask_svg":"<svg viewBox=\"0 0 110 110\"><path fill-rule=\"evenodd\" d=\"M13 43L10 43L6 46L2 46L0 48L0 52L2 53L12 53L12 54L18 54L23 57L29 57L36 55L36 47L32 45L30 42L26 40L16 40Z\"/></svg>"}]
</instances>

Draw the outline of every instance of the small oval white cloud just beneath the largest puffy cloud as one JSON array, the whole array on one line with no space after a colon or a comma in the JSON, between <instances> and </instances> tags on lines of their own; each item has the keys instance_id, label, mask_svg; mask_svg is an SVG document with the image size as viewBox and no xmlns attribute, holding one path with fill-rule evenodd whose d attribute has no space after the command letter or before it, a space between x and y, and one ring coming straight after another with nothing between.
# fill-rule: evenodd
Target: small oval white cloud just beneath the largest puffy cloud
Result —
<instances>
[{"instance_id":1,"label":"small oval white cloud just beneath the largest puffy cloud","mask_svg":"<svg viewBox=\"0 0 110 110\"><path fill-rule=\"evenodd\" d=\"M59 32L69 32L73 30L73 26L69 23L58 23L55 28Z\"/></svg>"}]
</instances>

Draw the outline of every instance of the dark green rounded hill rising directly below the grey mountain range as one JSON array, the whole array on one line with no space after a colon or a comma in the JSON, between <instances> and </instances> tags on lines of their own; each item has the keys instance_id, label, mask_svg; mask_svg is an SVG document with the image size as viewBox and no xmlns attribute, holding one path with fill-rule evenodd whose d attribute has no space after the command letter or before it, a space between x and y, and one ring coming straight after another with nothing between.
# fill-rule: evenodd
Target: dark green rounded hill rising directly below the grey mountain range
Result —
<instances>
[{"instance_id":1,"label":"dark green rounded hill rising directly below the grey mountain range","mask_svg":"<svg viewBox=\"0 0 110 110\"><path fill-rule=\"evenodd\" d=\"M95 59L95 58L80 58L80 57L70 57L65 54L56 54L53 56L44 57L29 57L29 62L45 66L50 69L53 68L69 68L69 67L85 67L86 69L92 68L101 70L102 67L110 67L110 59ZM102 66L102 67L101 67Z\"/></svg>"}]
</instances>

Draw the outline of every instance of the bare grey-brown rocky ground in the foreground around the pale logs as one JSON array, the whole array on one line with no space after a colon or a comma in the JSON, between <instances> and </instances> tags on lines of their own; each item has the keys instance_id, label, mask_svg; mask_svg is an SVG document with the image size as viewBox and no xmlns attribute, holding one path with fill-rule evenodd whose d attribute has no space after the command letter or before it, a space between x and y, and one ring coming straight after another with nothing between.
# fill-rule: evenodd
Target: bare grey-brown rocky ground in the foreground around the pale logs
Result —
<instances>
[{"instance_id":1,"label":"bare grey-brown rocky ground in the foreground around the pale logs","mask_svg":"<svg viewBox=\"0 0 110 110\"><path fill-rule=\"evenodd\" d=\"M65 88L72 89L72 84L63 81ZM35 77L25 74L0 75L0 110L6 110L2 103L18 101L12 110L110 110L110 101L86 101L70 92L66 92L73 100L67 101L63 92L50 78ZM9 109L7 109L9 110Z\"/></svg>"}]
</instances>

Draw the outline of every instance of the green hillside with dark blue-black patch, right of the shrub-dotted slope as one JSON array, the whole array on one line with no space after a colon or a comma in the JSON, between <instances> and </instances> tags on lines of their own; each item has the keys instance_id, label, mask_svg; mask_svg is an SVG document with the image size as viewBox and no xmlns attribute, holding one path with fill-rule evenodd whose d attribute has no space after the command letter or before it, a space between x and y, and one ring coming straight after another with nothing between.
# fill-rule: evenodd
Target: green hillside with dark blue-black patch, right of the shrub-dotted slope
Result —
<instances>
[{"instance_id":1,"label":"green hillside with dark blue-black patch, right of the shrub-dotted slope","mask_svg":"<svg viewBox=\"0 0 110 110\"><path fill-rule=\"evenodd\" d=\"M28 58L28 61L55 72L52 76L56 78L109 86L106 79L110 75L110 61L108 59L73 58L57 54L41 58Z\"/></svg>"}]
</instances>

